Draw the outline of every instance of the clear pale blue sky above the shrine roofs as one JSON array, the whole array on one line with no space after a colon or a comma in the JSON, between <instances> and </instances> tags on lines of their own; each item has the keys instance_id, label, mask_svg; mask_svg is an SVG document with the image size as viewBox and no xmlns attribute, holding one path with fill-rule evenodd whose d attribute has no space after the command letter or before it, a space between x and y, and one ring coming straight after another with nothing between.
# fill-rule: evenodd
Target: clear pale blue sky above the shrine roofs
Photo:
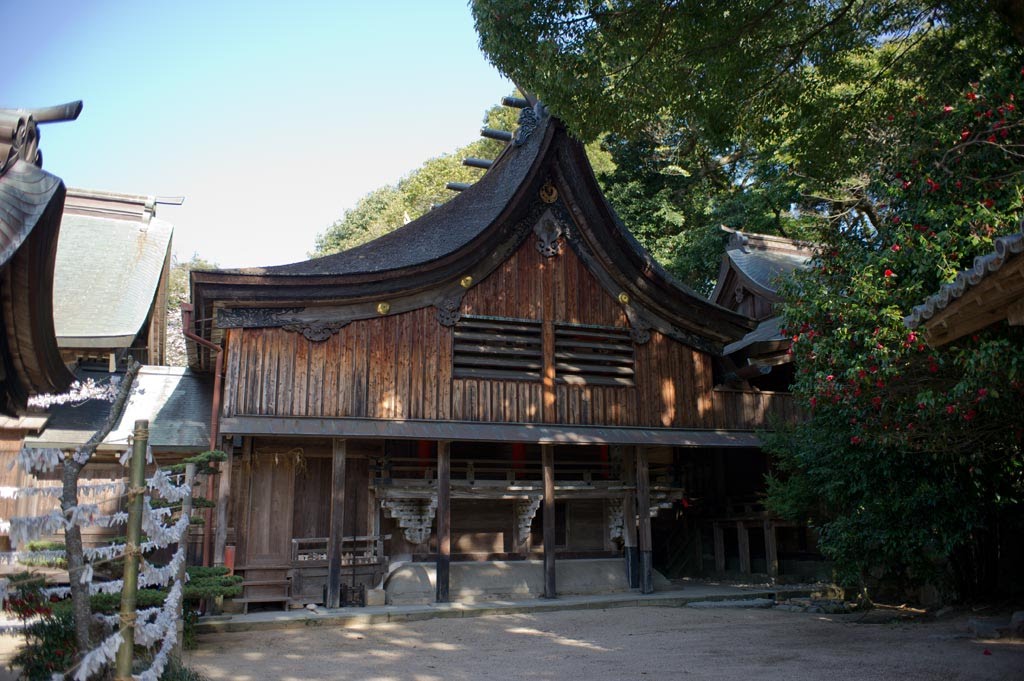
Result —
<instances>
[{"instance_id":1,"label":"clear pale blue sky above the shrine roofs","mask_svg":"<svg viewBox=\"0 0 1024 681\"><path fill-rule=\"evenodd\" d=\"M174 251L302 260L360 196L476 138L512 85L463 0L5 4L0 105L85 102L42 128L69 186L185 197Z\"/></svg>"}]
</instances>

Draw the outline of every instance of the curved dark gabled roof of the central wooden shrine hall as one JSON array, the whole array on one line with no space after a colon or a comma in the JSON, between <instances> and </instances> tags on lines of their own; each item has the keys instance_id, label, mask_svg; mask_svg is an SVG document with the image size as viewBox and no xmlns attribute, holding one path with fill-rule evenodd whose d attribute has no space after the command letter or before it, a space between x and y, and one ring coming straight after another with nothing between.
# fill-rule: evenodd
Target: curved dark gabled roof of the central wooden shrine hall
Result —
<instances>
[{"instance_id":1,"label":"curved dark gabled roof of the central wooden shrine hall","mask_svg":"<svg viewBox=\"0 0 1024 681\"><path fill-rule=\"evenodd\" d=\"M542 201L548 185L557 190ZM288 326L290 314L337 324L377 314L384 297L390 313L461 300L461 280L482 281L552 213L609 293L626 294L631 321L715 352L754 327L679 285L640 247L601 194L583 145L540 104L523 111L514 140L475 184L393 232L294 264L194 271L197 316L218 315L222 327ZM218 335L216 325L201 332Z\"/></svg>"}]
</instances>

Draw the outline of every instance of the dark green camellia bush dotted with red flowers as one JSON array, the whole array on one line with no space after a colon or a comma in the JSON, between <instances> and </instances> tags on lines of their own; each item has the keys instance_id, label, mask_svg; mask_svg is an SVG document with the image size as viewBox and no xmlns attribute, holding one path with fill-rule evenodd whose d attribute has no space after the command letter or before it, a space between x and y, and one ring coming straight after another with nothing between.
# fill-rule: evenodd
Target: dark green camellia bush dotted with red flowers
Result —
<instances>
[{"instance_id":1,"label":"dark green camellia bush dotted with red flowers","mask_svg":"<svg viewBox=\"0 0 1024 681\"><path fill-rule=\"evenodd\" d=\"M903 317L1021 228L1022 95L1005 68L886 114L900 143L870 187L877 228L837 225L782 285L808 418L767 436L768 502L819 528L847 585L1021 586L999 555L1024 527L1024 330L933 348Z\"/></svg>"}]
</instances>

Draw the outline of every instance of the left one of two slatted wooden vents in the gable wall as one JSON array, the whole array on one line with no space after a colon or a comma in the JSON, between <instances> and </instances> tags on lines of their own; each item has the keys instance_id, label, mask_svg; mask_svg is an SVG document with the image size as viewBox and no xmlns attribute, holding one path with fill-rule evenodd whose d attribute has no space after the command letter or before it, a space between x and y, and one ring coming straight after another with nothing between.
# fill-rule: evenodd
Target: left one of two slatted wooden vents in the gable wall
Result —
<instances>
[{"instance_id":1,"label":"left one of two slatted wooden vents in the gable wall","mask_svg":"<svg viewBox=\"0 0 1024 681\"><path fill-rule=\"evenodd\" d=\"M456 378L540 381L541 323L464 314L455 328Z\"/></svg>"}]
</instances>

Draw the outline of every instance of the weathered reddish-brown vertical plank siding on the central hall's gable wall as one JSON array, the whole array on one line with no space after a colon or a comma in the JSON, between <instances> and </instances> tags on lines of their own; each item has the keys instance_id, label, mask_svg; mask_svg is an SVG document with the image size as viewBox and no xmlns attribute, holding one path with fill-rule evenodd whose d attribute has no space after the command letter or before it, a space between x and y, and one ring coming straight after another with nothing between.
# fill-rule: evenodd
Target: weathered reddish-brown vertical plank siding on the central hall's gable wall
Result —
<instances>
[{"instance_id":1,"label":"weathered reddish-brown vertical plank siding on the central hall's gable wall","mask_svg":"<svg viewBox=\"0 0 1024 681\"><path fill-rule=\"evenodd\" d=\"M543 320L545 308L553 318ZM545 258L531 239L466 293L462 312L629 328L570 249ZM323 342L283 329L230 329L225 338L225 416L544 422L541 381L453 378L454 331L433 307L353 322ZM798 416L787 394L714 389L712 357L660 333L635 345L634 360L635 385L558 381L554 421L752 429L771 414Z\"/></svg>"}]
</instances>

